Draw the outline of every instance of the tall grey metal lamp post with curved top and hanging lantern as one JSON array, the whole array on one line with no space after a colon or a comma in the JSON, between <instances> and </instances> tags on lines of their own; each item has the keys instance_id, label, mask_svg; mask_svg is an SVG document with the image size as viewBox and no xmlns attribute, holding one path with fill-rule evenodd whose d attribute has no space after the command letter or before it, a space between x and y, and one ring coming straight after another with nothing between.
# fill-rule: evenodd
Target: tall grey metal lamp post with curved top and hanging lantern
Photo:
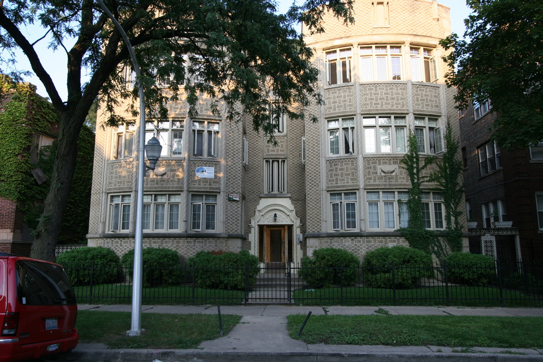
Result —
<instances>
[{"instance_id":1,"label":"tall grey metal lamp post with curved top and hanging lantern","mask_svg":"<svg viewBox=\"0 0 543 362\"><path fill-rule=\"evenodd\" d=\"M100 5L100 8L104 10L104 13L111 19L113 25L121 36L127 46L128 53L134 66L134 73L136 74L136 80L141 77L140 66L138 65L134 48L128 39L127 33L124 31L121 24L111 14L111 11L105 6L102 0L96 0ZM134 276L132 277L132 320L130 325L130 331L127 331L128 336L141 335L145 329L141 328L141 301L143 291L143 177L145 176L147 169L154 170L156 162L160 158L162 146L155 136L149 139L149 142L144 147L145 143L145 98L143 93L143 85L140 81L138 84L138 94L140 97L140 123L139 128L139 147L138 147L138 163L137 163L137 188L136 188L136 229L134 234ZM147 158L151 166L145 164L144 149L147 153Z\"/></svg>"}]
</instances>

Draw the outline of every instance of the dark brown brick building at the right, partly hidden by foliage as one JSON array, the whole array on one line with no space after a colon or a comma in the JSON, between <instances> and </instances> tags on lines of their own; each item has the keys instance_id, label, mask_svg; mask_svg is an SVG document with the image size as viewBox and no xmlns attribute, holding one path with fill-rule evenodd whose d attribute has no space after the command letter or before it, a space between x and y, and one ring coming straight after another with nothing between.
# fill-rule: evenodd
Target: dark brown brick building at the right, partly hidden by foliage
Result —
<instances>
[{"instance_id":1,"label":"dark brown brick building at the right, partly hidden by foliage","mask_svg":"<svg viewBox=\"0 0 543 362\"><path fill-rule=\"evenodd\" d=\"M488 101L459 113L466 212L477 223L469 228L470 251L502 262L541 263L543 143L500 149L489 130L496 117Z\"/></svg>"}]
</instances>

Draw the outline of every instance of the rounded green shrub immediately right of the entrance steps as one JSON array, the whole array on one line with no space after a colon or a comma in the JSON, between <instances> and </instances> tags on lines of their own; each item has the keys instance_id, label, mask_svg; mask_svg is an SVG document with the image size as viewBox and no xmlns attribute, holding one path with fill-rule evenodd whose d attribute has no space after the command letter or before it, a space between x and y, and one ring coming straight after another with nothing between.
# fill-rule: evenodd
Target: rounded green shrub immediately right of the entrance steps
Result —
<instances>
[{"instance_id":1,"label":"rounded green shrub immediately right of the entrance steps","mask_svg":"<svg viewBox=\"0 0 543 362\"><path fill-rule=\"evenodd\" d=\"M300 276L313 288L353 285L358 282L360 261L350 251L324 247L302 258Z\"/></svg>"}]
</instances>

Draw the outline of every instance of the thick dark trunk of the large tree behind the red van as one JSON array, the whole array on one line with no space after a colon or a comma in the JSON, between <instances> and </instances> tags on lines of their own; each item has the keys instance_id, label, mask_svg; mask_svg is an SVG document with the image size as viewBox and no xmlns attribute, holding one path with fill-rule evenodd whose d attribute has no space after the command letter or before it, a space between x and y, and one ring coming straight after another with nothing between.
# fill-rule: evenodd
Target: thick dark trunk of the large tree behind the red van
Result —
<instances>
[{"instance_id":1,"label":"thick dark trunk of the large tree behind the red van","mask_svg":"<svg viewBox=\"0 0 543 362\"><path fill-rule=\"evenodd\" d=\"M62 216L70 194L75 169L77 139L85 119L83 116L79 122L76 117L80 117L80 115L77 113L79 112L71 114L66 112L59 115L60 128L53 174L30 251L30 256L33 258L55 261L55 246L60 234Z\"/></svg>"}]
</instances>

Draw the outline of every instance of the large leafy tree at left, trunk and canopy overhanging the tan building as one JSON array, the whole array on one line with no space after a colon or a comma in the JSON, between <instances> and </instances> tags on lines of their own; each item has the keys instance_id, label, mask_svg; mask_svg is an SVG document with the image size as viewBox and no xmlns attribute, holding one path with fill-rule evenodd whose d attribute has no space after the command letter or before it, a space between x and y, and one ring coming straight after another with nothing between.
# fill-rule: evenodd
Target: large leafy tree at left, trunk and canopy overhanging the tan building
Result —
<instances>
[{"instance_id":1,"label":"large leafy tree at left, trunk and canopy overhanging the tan building","mask_svg":"<svg viewBox=\"0 0 543 362\"><path fill-rule=\"evenodd\" d=\"M235 122L244 111L251 116L254 129L266 135L274 130L266 115L271 94L295 119L304 115L291 105L322 101L315 86L318 69L311 64L312 51L296 32L295 23L303 17L308 29L322 31L319 23L325 11L352 21L351 0L311 0L292 7L287 15L275 14L275 3L268 0L105 3L135 48L142 71L136 81L144 87L149 119L165 118L165 103L177 100L180 85L184 85L190 116L196 114L198 97L205 94L215 100L214 112ZM67 54L65 103L34 43L21 32L34 22L44 28L40 40L49 36L50 47ZM87 113L98 99L111 114L111 124L124 122L113 108L120 100L135 99L137 87L134 92L126 87L122 69L130 66L127 47L93 0L4 0L0 2L0 27L0 46L22 49L59 118L51 186L31 252L34 257L52 260L72 182L77 137ZM74 42L72 47L67 45L70 42ZM84 68L90 80L81 84ZM20 79L17 75L11 74L15 80ZM156 85L156 79L164 78L169 79L167 93Z\"/></svg>"}]
</instances>

